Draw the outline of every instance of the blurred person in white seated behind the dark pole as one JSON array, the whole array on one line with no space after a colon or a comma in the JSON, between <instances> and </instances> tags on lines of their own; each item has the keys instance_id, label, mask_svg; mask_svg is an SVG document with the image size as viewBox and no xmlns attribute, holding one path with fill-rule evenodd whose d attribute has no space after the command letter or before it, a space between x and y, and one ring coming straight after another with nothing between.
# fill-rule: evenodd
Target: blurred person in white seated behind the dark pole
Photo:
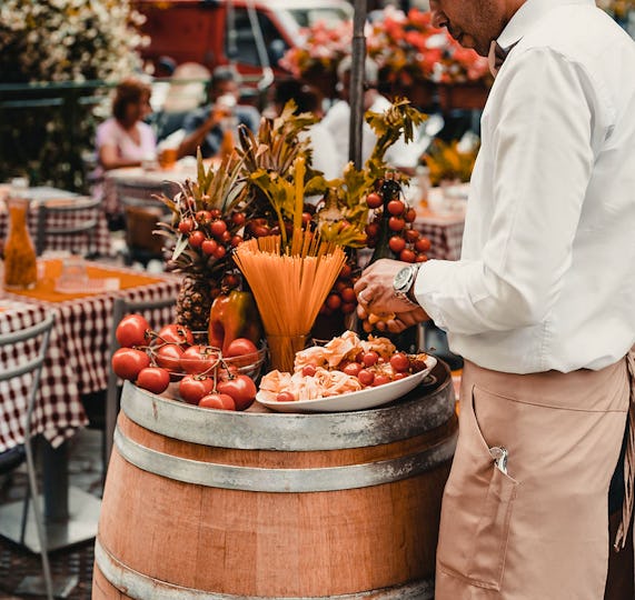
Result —
<instances>
[{"instance_id":1,"label":"blurred person in white seated behind the dark pole","mask_svg":"<svg viewBox=\"0 0 635 600\"><path fill-rule=\"evenodd\" d=\"M328 110L324 118L324 126L331 132L338 151L339 172L344 171L349 160L350 136L350 67L351 59L346 57L337 68L338 90L340 100ZM391 104L390 101L377 90L378 69L375 61L367 58L364 73L364 111L384 112ZM361 162L365 163L373 152L377 137L370 126L364 121L361 133ZM416 141L416 140L415 140ZM420 148L417 143L406 143L398 139L385 154L386 162L396 169L413 174L419 163Z\"/></svg>"}]
</instances>

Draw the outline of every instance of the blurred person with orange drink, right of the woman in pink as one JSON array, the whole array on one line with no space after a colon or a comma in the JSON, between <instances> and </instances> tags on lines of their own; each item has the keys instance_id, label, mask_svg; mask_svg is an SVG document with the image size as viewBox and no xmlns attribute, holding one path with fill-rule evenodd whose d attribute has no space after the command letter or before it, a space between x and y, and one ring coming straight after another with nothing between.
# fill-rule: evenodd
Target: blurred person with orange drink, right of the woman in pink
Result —
<instances>
[{"instance_id":1,"label":"blurred person with orange drink, right of the woman in pink","mask_svg":"<svg viewBox=\"0 0 635 600\"><path fill-rule=\"evenodd\" d=\"M260 113L255 107L239 104L240 76L231 67L217 67L208 88L209 103L197 109L183 121L185 138L179 144L179 158L196 156L200 147L202 158L217 157L228 133L244 124L258 131ZM236 141L236 140L235 140Z\"/></svg>"}]
</instances>

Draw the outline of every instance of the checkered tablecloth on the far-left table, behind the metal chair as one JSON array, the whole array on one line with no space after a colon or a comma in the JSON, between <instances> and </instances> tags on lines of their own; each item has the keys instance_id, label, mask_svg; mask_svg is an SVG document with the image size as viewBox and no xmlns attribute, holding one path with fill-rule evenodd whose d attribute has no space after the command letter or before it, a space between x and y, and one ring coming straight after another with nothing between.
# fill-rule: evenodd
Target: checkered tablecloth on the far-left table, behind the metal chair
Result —
<instances>
[{"instance_id":1,"label":"checkered tablecloth on the far-left table, behind the metal chair","mask_svg":"<svg viewBox=\"0 0 635 600\"><path fill-rule=\"evenodd\" d=\"M52 189L52 188L48 188ZM56 199L72 198L77 194L71 192L65 192L60 190L60 193L68 196L58 196ZM52 198L40 198L36 196L36 199L31 201L29 207L28 224L29 232L31 233L31 239L33 243L36 241L36 234L38 231L38 211L41 202L47 200L52 200ZM78 222L82 222L86 219L90 219L93 214L93 210L82 210L78 212L56 212L49 213L48 226L51 228L66 228L72 227ZM0 209L0 239L4 239L9 231L9 213ZM106 213L100 211L98 214L97 228L86 234L72 234L72 236L50 236L47 237L46 249L48 251L68 251L79 254L87 254L89 251L97 253L102 257L110 257L115 254L112 248L112 239L110 231L108 230L108 221L106 219Z\"/></svg>"}]
</instances>

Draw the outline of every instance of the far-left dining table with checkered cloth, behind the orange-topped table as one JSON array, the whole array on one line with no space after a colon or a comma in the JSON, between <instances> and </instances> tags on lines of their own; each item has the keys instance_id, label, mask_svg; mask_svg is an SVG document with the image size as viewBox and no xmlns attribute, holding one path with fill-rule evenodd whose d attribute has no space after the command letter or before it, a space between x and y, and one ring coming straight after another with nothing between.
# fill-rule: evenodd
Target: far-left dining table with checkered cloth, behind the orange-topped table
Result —
<instances>
[{"instance_id":1,"label":"far-left dining table with checkered cloth, behind the orange-topped table","mask_svg":"<svg viewBox=\"0 0 635 600\"><path fill-rule=\"evenodd\" d=\"M9 193L9 187L0 189L0 198ZM38 212L42 204L69 204L78 199L85 198L76 192L53 188L50 186L36 186L21 191L21 194L29 199L28 228L31 239L34 241L38 231ZM90 210L77 212L56 212L49 214L48 224L53 228L70 228L78 222L90 218ZM0 202L0 240L7 238L9 231L9 212L4 202ZM97 227L91 233L90 251L100 257L111 257L115 254L112 239L108 230L106 213L100 210L98 213ZM49 252L78 252L86 254L89 251L88 239L86 237L73 236L51 236L47 239L47 251Z\"/></svg>"}]
</instances>

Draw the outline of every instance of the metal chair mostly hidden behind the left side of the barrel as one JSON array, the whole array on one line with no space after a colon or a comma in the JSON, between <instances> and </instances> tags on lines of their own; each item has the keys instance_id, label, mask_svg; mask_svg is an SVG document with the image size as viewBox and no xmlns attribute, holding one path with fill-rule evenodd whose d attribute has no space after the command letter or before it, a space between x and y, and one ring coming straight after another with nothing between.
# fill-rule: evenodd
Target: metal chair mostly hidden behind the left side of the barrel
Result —
<instances>
[{"instance_id":1,"label":"metal chair mostly hidden behind the left side of the barrel","mask_svg":"<svg viewBox=\"0 0 635 600\"><path fill-rule=\"evenodd\" d=\"M109 360L112 359L112 354L119 348L117 342L116 330L117 326L123 319L126 314L131 312L147 312L153 309L162 309L173 307L176 304L176 298L166 298L162 300L150 300L150 301L129 301L125 298L117 298L112 307L112 329L110 331L109 341ZM165 323L162 323L165 324ZM115 427L117 426L117 414L119 413L119 398L121 394L121 389L117 384L118 378L109 369L108 371L108 384L106 389L106 422L105 422L105 436L103 436L103 474L108 470L108 461L110 460L110 453L112 452L112 439L115 437Z\"/></svg>"}]
</instances>

